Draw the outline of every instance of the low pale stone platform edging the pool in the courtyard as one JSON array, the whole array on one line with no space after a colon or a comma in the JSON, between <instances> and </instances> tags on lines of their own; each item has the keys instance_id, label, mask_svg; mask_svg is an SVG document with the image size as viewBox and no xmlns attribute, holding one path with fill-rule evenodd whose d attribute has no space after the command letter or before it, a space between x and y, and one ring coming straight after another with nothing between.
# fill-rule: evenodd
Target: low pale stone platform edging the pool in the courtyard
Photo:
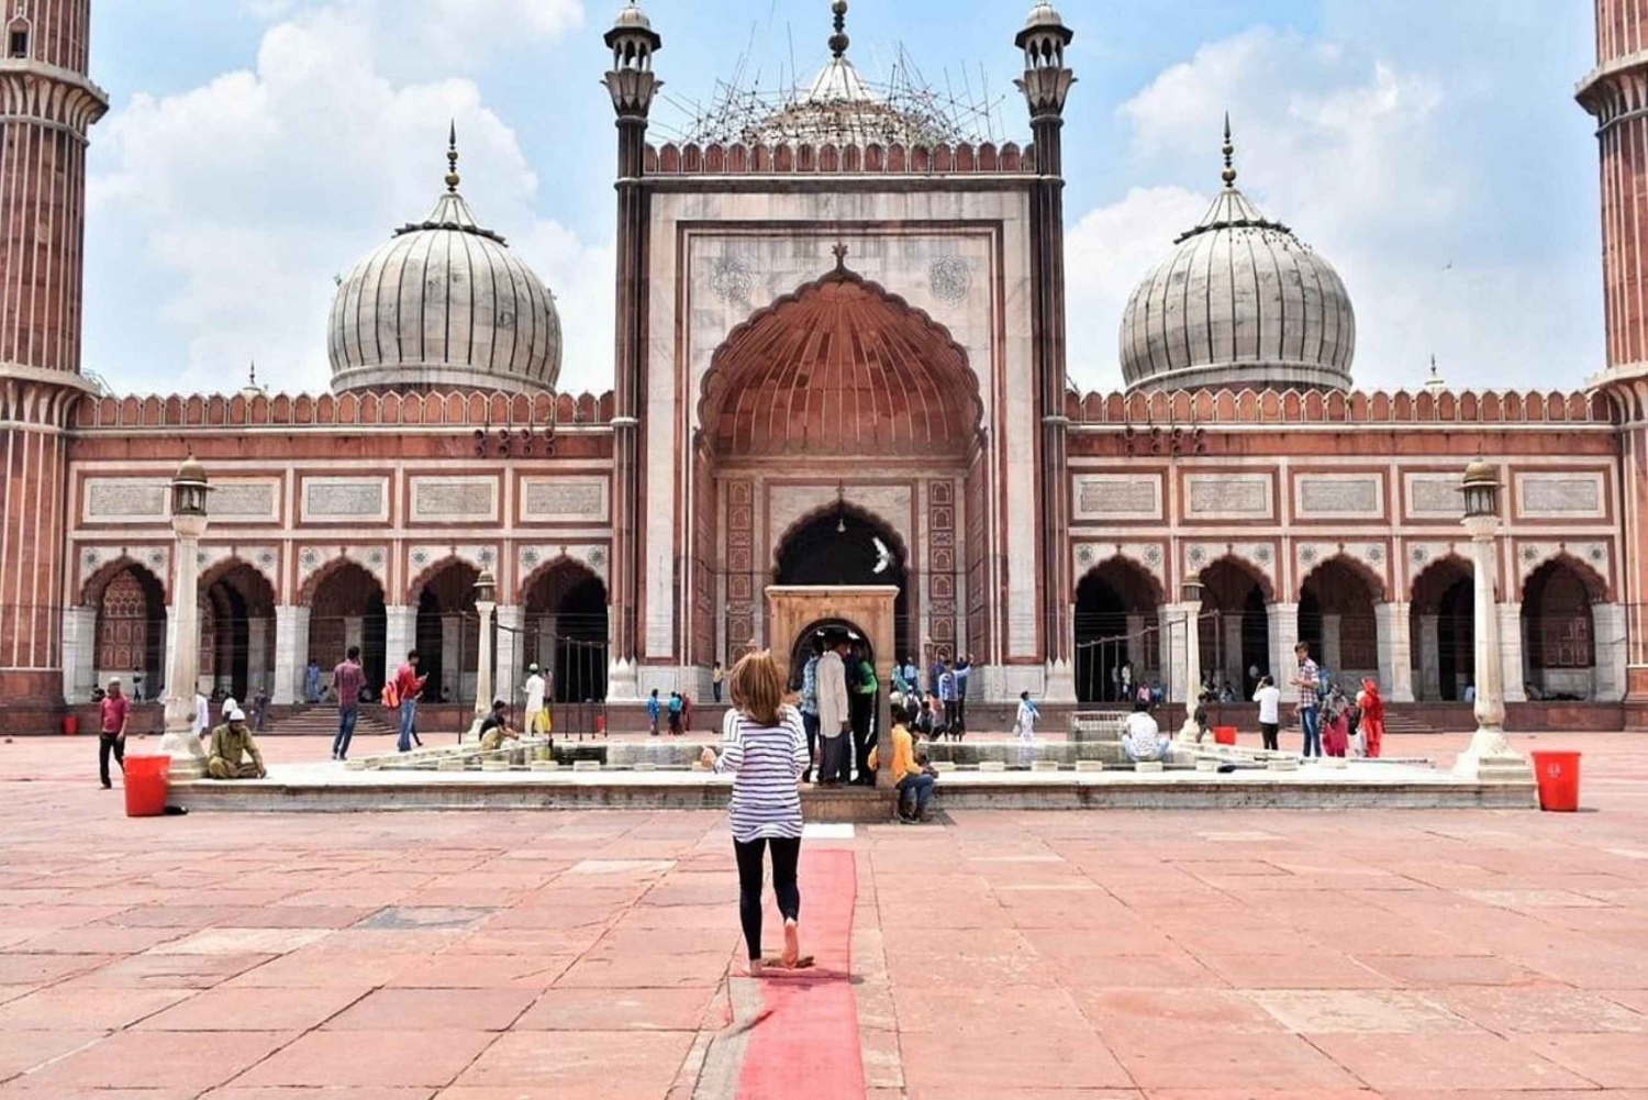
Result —
<instances>
[{"instance_id":1,"label":"low pale stone platform edging the pool in the courtyard","mask_svg":"<svg viewBox=\"0 0 1648 1100\"><path fill-rule=\"evenodd\" d=\"M346 770L339 764L288 764L269 778L178 783L171 801L196 811L368 810L720 810L732 793L723 775L689 770L430 772ZM885 790L803 788L809 821L888 821ZM934 810L1533 810L1534 785L1475 783L1416 764L1351 760L1297 770L1243 767L1162 772L954 770L934 792Z\"/></svg>"}]
</instances>

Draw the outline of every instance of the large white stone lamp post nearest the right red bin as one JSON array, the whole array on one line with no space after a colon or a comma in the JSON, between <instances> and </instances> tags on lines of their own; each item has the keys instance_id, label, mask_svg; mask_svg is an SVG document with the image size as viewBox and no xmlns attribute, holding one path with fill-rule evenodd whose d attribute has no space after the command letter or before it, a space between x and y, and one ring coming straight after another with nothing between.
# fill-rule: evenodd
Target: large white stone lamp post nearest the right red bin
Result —
<instances>
[{"instance_id":1,"label":"large white stone lamp post nearest the right red bin","mask_svg":"<svg viewBox=\"0 0 1648 1100\"><path fill-rule=\"evenodd\" d=\"M1460 483L1465 493L1465 531L1470 533L1475 592L1475 666L1477 666L1477 732L1470 749L1458 755L1454 775L1478 782L1528 782L1533 772L1505 739L1505 675L1500 663L1500 482L1493 467L1477 458L1465 467Z\"/></svg>"}]
</instances>

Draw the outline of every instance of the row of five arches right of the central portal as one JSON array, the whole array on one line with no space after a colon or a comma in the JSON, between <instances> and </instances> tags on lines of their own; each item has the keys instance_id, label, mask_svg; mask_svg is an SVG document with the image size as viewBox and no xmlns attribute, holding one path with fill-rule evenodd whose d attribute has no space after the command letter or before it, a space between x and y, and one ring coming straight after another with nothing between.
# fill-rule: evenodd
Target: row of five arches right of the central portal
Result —
<instances>
[{"instance_id":1,"label":"row of five arches right of the central portal","mask_svg":"<svg viewBox=\"0 0 1648 1100\"><path fill-rule=\"evenodd\" d=\"M1378 679L1393 703L1463 701L1475 668L1472 566L1445 556L1412 577L1406 599L1388 599L1366 564L1315 564L1294 599L1279 599L1252 562L1221 557L1196 574L1196 604L1168 599L1155 574L1126 556L1086 562L1078 581L1076 694L1083 703L1121 698L1122 666L1134 684L1185 693L1185 620L1198 618L1203 683L1252 694L1259 675L1277 676L1297 701L1294 646L1345 684ZM1625 694L1627 609L1584 562L1557 554L1526 571L1493 610L1500 617L1508 701L1618 701Z\"/></svg>"}]
</instances>

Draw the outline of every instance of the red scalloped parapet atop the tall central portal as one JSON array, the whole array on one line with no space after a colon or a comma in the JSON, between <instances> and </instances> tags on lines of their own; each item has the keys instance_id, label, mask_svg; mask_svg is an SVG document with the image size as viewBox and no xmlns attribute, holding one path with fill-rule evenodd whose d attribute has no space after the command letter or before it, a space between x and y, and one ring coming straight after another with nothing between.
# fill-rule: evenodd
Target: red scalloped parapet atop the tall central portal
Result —
<instances>
[{"instance_id":1,"label":"red scalloped parapet atop the tall central portal","mask_svg":"<svg viewBox=\"0 0 1648 1100\"><path fill-rule=\"evenodd\" d=\"M648 145L646 173L720 175L1018 175L1035 145Z\"/></svg>"}]
</instances>

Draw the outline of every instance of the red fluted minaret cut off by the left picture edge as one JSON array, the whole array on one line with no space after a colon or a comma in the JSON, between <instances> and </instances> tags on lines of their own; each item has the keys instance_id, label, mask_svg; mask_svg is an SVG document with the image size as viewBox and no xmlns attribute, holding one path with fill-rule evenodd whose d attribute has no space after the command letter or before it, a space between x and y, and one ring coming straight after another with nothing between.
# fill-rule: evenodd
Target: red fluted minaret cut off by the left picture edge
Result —
<instances>
[{"instance_id":1,"label":"red fluted minaret cut off by the left picture edge","mask_svg":"<svg viewBox=\"0 0 1648 1100\"><path fill-rule=\"evenodd\" d=\"M8 0L0 56L0 729L63 703L63 430L81 378L91 0ZM3 711L12 711L7 719ZM28 729L28 732L44 732Z\"/></svg>"}]
</instances>

